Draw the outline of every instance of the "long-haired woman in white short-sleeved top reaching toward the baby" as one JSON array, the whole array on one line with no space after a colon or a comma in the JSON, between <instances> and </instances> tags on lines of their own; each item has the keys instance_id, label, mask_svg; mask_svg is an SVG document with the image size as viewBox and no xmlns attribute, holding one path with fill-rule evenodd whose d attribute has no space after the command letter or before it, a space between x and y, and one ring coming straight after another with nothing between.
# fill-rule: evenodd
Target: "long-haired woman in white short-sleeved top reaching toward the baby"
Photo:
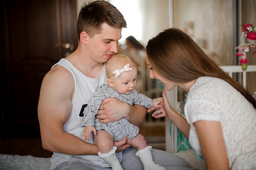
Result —
<instances>
[{"instance_id":1,"label":"long-haired woman in white short-sleeved top reaching toward the baby","mask_svg":"<svg viewBox=\"0 0 256 170\"><path fill-rule=\"evenodd\" d=\"M207 169L255 168L253 96L179 29L167 29L149 40L146 54L150 78L157 78L166 90L179 86L189 92L186 119L173 110L165 90L164 104L152 116L173 121Z\"/></svg>"}]
</instances>

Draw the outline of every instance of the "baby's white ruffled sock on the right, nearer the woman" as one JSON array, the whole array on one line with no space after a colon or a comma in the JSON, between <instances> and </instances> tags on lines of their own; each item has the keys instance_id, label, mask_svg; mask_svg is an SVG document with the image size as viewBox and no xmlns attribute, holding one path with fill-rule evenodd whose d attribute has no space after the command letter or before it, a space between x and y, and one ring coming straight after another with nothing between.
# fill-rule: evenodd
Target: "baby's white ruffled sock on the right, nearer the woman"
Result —
<instances>
[{"instance_id":1,"label":"baby's white ruffled sock on the right, nearer the woman","mask_svg":"<svg viewBox=\"0 0 256 170\"><path fill-rule=\"evenodd\" d=\"M144 170L165 170L163 166L159 166L153 161L151 148L152 146L147 146L144 149L138 150L135 154L143 163Z\"/></svg>"}]
</instances>

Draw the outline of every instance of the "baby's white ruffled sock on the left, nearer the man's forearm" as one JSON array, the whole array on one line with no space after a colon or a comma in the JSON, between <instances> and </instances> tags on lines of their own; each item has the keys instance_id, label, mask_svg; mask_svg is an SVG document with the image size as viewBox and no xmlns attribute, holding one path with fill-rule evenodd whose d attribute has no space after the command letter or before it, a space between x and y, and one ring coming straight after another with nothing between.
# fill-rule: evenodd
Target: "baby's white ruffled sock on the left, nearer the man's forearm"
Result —
<instances>
[{"instance_id":1,"label":"baby's white ruffled sock on the left, nearer the man's forearm","mask_svg":"<svg viewBox=\"0 0 256 170\"><path fill-rule=\"evenodd\" d=\"M116 155L116 150L117 147L114 146L112 150L110 150L110 152L106 153L106 154L102 154L100 151L98 152L98 155L103 158L106 162L108 162L112 168L112 170L124 170L121 166L121 163L119 162L119 160L117 159L117 155Z\"/></svg>"}]
</instances>

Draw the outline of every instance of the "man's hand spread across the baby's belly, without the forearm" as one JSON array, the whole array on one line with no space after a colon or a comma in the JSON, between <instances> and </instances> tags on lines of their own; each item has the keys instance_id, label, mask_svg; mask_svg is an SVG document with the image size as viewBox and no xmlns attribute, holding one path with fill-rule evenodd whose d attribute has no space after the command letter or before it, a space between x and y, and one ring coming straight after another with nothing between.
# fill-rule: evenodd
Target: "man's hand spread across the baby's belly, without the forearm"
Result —
<instances>
[{"instance_id":1,"label":"man's hand spread across the baby's belly, without the forearm","mask_svg":"<svg viewBox=\"0 0 256 170\"><path fill-rule=\"evenodd\" d=\"M128 103L119 101L117 98L105 98L99 107L96 118L100 123L109 123L119 121L121 118L126 118L130 112Z\"/></svg>"}]
</instances>

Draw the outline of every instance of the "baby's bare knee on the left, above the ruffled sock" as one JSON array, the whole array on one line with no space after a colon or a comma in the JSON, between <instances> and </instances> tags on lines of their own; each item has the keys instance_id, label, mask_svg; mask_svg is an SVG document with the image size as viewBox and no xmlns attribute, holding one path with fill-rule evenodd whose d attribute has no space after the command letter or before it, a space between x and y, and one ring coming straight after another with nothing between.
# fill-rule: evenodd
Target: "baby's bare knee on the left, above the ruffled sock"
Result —
<instances>
[{"instance_id":1,"label":"baby's bare knee on the left, above the ruffled sock","mask_svg":"<svg viewBox=\"0 0 256 170\"><path fill-rule=\"evenodd\" d=\"M113 149L114 138L105 130L99 130L97 131L97 135L94 135L94 143L101 153L106 154Z\"/></svg>"}]
</instances>

